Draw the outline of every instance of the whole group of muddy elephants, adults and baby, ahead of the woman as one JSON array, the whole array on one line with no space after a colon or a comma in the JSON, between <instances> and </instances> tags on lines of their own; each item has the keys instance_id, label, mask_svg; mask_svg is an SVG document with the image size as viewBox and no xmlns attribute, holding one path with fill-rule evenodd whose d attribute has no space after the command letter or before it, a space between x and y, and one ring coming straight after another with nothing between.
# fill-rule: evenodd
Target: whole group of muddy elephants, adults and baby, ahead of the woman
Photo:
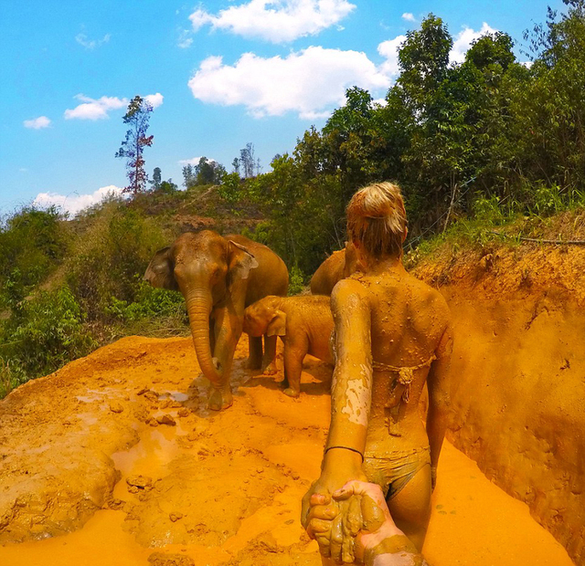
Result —
<instances>
[{"instance_id":1,"label":"whole group of muddy elephants, adults and baby, ahead of the woman","mask_svg":"<svg viewBox=\"0 0 585 566\"><path fill-rule=\"evenodd\" d=\"M144 279L185 297L197 362L211 383L208 406L221 410L233 402L229 375L242 331L250 337L248 368L268 374L276 373L276 341L281 337L284 393L292 397L300 393L307 353L333 362L328 296L356 264L355 250L348 244L314 273L312 295L286 297L288 270L269 247L244 236L204 230L182 234L157 251Z\"/></svg>"}]
</instances>

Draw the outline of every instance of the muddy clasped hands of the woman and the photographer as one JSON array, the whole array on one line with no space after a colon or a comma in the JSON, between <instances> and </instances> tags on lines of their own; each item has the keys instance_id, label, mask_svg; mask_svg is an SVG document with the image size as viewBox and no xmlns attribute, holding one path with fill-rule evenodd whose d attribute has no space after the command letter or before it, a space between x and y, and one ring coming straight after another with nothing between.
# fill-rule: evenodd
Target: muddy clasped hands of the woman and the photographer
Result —
<instances>
[{"instance_id":1,"label":"muddy clasped hands of the woman and the photographer","mask_svg":"<svg viewBox=\"0 0 585 566\"><path fill-rule=\"evenodd\" d=\"M333 493L320 491L314 486L303 498L303 526L335 563L368 564L384 540L403 535L377 484L352 480Z\"/></svg>"}]
</instances>

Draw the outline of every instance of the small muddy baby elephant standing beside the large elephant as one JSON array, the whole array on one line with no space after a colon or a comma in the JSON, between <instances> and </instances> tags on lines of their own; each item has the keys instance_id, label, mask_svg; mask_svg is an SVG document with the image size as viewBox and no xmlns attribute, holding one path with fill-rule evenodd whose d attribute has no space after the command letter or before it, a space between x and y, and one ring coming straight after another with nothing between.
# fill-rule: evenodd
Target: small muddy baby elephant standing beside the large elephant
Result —
<instances>
[{"instance_id":1,"label":"small muddy baby elephant standing beside the large elephant","mask_svg":"<svg viewBox=\"0 0 585 566\"><path fill-rule=\"evenodd\" d=\"M269 295L244 310L243 330L250 336L264 335L268 355L262 369L268 373L276 372L276 337L281 337L284 343L284 393L291 397L299 396L306 354L324 362L334 362L329 350L333 331L329 297Z\"/></svg>"}]
</instances>

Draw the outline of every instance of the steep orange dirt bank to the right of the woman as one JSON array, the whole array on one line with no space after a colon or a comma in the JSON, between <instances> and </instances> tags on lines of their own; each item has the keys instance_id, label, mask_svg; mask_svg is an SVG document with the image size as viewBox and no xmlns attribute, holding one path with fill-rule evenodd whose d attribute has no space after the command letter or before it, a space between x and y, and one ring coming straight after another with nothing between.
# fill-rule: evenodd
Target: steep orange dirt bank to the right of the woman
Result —
<instances>
[{"instance_id":1,"label":"steep orange dirt bank to the right of the woman","mask_svg":"<svg viewBox=\"0 0 585 566\"><path fill-rule=\"evenodd\" d=\"M449 438L585 564L585 250L446 254L416 274L455 320Z\"/></svg>"}]
</instances>

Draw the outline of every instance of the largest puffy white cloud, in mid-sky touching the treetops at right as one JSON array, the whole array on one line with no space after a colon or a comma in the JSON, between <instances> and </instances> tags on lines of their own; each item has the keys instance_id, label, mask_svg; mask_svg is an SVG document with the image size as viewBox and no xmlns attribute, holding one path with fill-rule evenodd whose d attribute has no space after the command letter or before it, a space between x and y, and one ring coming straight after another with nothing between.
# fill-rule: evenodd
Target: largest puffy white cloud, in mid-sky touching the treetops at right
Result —
<instances>
[{"instance_id":1,"label":"largest puffy white cloud, in mid-sky touching the treetops at right","mask_svg":"<svg viewBox=\"0 0 585 566\"><path fill-rule=\"evenodd\" d=\"M343 104L347 88L387 89L390 79L364 53L308 47L286 58L245 53L233 66L209 57L188 85L198 100L243 105L255 117L293 111L314 120Z\"/></svg>"}]
</instances>

